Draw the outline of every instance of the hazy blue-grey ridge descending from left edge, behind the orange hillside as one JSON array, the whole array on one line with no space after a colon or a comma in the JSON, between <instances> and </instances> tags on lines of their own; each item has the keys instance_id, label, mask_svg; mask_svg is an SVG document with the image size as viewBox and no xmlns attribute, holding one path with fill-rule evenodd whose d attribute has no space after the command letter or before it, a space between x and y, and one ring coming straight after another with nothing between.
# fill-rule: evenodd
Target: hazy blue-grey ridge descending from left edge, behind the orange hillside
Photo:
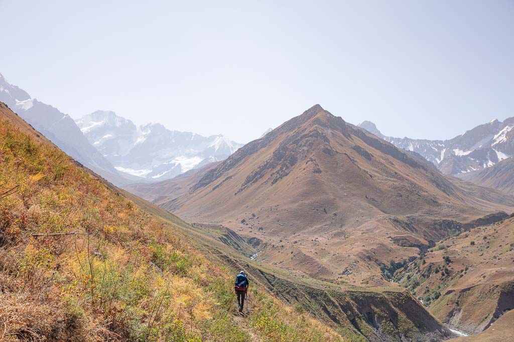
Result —
<instances>
[{"instance_id":1,"label":"hazy blue-grey ridge descending from left edge, behind the orange hillside","mask_svg":"<svg viewBox=\"0 0 514 342\"><path fill-rule=\"evenodd\" d=\"M78 162L114 183L122 183L119 182L118 172L113 165L88 143L69 115L32 98L25 90L9 84L2 74L0 101Z\"/></svg>"}]
</instances>

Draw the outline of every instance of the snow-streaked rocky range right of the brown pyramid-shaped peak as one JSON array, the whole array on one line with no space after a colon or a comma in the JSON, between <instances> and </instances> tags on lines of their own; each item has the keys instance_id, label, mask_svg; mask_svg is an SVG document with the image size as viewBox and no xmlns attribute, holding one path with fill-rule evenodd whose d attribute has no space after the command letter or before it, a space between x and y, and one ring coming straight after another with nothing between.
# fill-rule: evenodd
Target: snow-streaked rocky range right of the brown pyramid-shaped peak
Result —
<instances>
[{"instance_id":1,"label":"snow-streaked rocky range right of the brown pyramid-shaped peak","mask_svg":"<svg viewBox=\"0 0 514 342\"><path fill-rule=\"evenodd\" d=\"M483 170L514 155L514 117L492 120L444 141L385 136L369 121L358 126L396 147L419 153L447 174Z\"/></svg>"}]
</instances>

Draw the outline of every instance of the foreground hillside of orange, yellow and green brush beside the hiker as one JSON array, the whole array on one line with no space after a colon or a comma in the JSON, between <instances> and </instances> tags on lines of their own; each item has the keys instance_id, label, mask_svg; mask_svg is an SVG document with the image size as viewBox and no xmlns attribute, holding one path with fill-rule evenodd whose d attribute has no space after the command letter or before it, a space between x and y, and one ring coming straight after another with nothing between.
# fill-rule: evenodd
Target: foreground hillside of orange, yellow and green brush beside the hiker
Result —
<instances>
[{"instance_id":1,"label":"foreground hillside of orange, yellow and green brush beside the hiker","mask_svg":"<svg viewBox=\"0 0 514 342\"><path fill-rule=\"evenodd\" d=\"M0 340L345 340L232 274L0 104Z\"/></svg>"}]
</instances>

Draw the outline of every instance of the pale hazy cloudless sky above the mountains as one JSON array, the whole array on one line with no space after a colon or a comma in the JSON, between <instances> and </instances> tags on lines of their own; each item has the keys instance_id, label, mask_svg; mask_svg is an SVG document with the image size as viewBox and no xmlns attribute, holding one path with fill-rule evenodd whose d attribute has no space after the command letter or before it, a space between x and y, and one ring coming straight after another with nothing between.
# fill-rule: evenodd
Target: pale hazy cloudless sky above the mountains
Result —
<instances>
[{"instance_id":1,"label":"pale hazy cloudless sky above the mountains","mask_svg":"<svg viewBox=\"0 0 514 342\"><path fill-rule=\"evenodd\" d=\"M246 143L314 104L414 138L514 116L513 1L0 0L0 12L0 73L72 117L114 110Z\"/></svg>"}]
</instances>

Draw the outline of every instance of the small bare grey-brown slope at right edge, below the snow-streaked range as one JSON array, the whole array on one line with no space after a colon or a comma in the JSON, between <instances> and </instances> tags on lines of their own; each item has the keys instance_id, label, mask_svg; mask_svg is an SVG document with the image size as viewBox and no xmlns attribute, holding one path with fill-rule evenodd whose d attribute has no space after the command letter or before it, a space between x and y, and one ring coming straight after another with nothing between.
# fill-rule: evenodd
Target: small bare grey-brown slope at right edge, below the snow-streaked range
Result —
<instances>
[{"instance_id":1,"label":"small bare grey-brown slope at right edge, below the snow-streaked range","mask_svg":"<svg viewBox=\"0 0 514 342\"><path fill-rule=\"evenodd\" d=\"M475 172L467 180L512 195L514 194L514 157L502 160L481 172Z\"/></svg>"}]
</instances>

